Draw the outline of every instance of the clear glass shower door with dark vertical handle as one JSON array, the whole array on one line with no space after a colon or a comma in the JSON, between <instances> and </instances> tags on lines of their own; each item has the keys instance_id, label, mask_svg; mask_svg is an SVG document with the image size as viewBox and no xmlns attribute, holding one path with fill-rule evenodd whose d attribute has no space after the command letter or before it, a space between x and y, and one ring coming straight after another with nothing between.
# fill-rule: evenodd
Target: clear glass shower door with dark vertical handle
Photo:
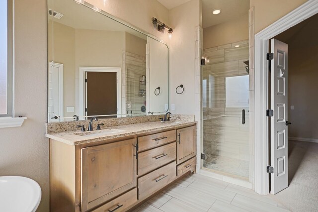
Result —
<instances>
[{"instance_id":1,"label":"clear glass shower door with dark vertical handle","mask_svg":"<svg viewBox=\"0 0 318 212\"><path fill-rule=\"evenodd\" d=\"M202 67L203 167L248 179L249 75L237 58Z\"/></svg>"}]
</instances>

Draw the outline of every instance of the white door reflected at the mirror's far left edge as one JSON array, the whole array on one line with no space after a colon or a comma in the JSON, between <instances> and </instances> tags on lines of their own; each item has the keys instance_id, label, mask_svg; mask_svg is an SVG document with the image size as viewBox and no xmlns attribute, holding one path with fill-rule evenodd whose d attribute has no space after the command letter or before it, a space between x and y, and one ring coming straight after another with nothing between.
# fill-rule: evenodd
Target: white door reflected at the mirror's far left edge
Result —
<instances>
[{"instance_id":1,"label":"white door reflected at the mirror's far left edge","mask_svg":"<svg viewBox=\"0 0 318 212\"><path fill-rule=\"evenodd\" d=\"M54 116L63 117L63 64L49 63L48 122L58 122Z\"/></svg>"}]
</instances>

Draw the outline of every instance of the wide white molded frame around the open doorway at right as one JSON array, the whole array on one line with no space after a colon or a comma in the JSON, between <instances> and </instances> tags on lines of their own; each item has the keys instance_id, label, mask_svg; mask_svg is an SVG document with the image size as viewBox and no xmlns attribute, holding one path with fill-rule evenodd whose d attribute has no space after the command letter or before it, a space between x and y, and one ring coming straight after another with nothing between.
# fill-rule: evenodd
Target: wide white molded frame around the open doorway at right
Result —
<instances>
[{"instance_id":1,"label":"wide white molded frame around the open doorway at right","mask_svg":"<svg viewBox=\"0 0 318 212\"><path fill-rule=\"evenodd\" d=\"M254 88L254 151L255 151L255 192L269 194L269 175L266 166L269 161L269 120L266 116L268 108L268 40L286 31L290 27L318 13L318 0L308 0L295 10L280 18L255 35L255 88ZM273 108L272 108L273 109Z\"/></svg>"}]
</instances>

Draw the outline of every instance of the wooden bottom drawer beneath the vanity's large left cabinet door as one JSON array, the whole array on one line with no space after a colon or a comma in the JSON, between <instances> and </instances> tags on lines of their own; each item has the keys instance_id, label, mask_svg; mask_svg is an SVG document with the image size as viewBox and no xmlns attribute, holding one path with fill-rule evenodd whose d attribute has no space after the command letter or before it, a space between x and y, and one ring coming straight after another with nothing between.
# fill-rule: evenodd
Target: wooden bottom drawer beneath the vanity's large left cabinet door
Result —
<instances>
[{"instance_id":1,"label":"wooden bottom drawer beneath the vanity's large left cabinet door","mask_svg":"<svg viewBox=\"0 0 318 212\"><path fill-rule=\"evenodd\" d=\"M128 207L137 202L137 188L95 209L93 212L125 212Z\"/></svg>"}]
</instances>

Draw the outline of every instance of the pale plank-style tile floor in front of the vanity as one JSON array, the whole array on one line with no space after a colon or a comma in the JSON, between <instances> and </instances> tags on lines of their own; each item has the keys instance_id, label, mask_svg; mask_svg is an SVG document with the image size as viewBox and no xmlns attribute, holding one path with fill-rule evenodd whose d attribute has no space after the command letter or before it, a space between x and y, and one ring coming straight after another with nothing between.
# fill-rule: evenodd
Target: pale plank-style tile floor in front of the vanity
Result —
<instances>
[{"instance_id":1,"label":"pale plank-style tile floor in front of the vanity","mask_svg":"<svg viewBox=\"0 0 318 212\"><path fill-rule=\"evenodd\" d=\"M269 196L198 174L177 181L134 212L287 212Z\"/></svg>"}]
</instances>

